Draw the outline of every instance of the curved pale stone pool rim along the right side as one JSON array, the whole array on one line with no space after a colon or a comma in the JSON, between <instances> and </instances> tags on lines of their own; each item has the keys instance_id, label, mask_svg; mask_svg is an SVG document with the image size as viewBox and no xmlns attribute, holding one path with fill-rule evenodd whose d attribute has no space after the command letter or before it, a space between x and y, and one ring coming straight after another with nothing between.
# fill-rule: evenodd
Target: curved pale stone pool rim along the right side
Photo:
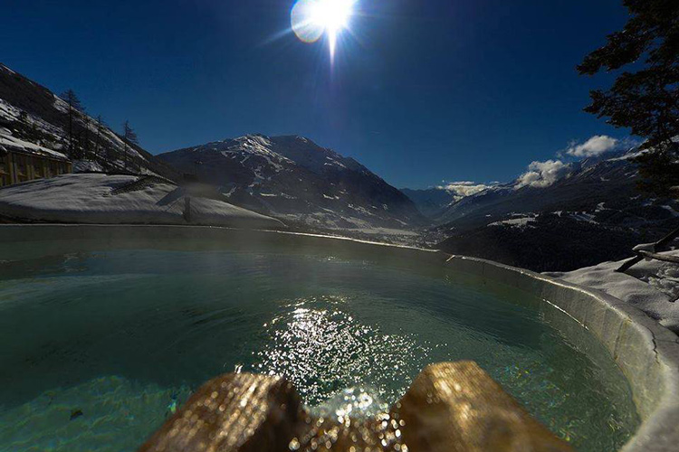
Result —
<instances>
[{"instance_id":1,"label":"curved pale stone pool rim along the right side","mask_svg":"<svg viewBox=\"0 0 679 452\"><path fill-rule=\"evenodd\" d=\"M671 452L679 444L679 337L616 297L487 259L446 265L534 293L598 338L625 374L642 424L621 452Z\"/></svg>"}]
</instances>

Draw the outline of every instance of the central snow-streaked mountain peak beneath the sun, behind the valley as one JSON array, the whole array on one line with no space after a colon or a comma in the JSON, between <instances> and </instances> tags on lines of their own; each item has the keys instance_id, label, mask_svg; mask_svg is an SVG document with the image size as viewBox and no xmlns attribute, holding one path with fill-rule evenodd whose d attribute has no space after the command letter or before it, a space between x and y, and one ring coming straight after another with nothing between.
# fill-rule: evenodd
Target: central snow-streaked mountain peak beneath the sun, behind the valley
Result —
<instances>
[{"instance_id":1,"label":"central snow-streaked mountain peak beneath the sun, behind the valley","mask_svg":"<svg viewBox=\"0 0 679 452\"><path fill-rule=\"evenodd\" d=\"M158 155L220 185L229 201L320 229L424 223L415 204L359 162L296 136L248 135Z\"/></svg>"}]
</instances>

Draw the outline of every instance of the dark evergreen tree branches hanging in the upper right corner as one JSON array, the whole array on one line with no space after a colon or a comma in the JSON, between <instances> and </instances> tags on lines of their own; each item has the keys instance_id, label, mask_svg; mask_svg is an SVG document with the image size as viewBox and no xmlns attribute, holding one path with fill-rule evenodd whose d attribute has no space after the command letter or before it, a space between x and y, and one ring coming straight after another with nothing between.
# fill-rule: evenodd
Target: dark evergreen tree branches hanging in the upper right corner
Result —
<instances>
[{"instance_id":1,"label":"dark evergreen tree branches hanging in the upper right corner","mask_svg":"<svg viewBox=\"0 0 679 452\"><path fill-rule=\"evenodd\" d=\"M585 111L646 139L637 157L641 188L679 196L679 1L624 0L623 30L589 53L580 74L628 69L610 89L590 92Z\"/></svg>"}]
</instances>

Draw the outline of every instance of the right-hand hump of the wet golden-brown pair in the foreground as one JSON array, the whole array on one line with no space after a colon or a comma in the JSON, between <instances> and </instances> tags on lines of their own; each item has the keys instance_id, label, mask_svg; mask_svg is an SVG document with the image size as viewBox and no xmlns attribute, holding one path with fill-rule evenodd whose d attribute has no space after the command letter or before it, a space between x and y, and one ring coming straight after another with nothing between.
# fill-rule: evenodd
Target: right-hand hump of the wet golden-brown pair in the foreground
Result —
<instances>
[{"instance_id":1,"label":"right-hand hump of the wet golden-brown pair in the foreground","mask_svg":"<svg viewBox=\"0 0 679 452\"><path fill-rule=\"evenodd\" d=\"M410 452L573 452L473 362L427 366L394 410Z\"/></svg>"}]
</instances>

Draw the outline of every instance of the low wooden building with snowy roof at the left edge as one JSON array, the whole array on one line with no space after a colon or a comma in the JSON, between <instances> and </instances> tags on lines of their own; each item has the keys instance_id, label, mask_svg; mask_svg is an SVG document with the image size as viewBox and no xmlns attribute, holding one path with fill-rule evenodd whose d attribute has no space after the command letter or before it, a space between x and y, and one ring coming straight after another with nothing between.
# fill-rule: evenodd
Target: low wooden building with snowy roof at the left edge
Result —
<instances>
[{"instance_id":1,"label":"low wooden building with snowy roof at the left edge","mask_svg":"<svg viewBox=\"0 0 679 452\"><path fill-rule=\"evenodd\" d=\"M71 161L62 153L40 146L0 143L0 187L72 173Z\"/></svg>"}]
</instances>

